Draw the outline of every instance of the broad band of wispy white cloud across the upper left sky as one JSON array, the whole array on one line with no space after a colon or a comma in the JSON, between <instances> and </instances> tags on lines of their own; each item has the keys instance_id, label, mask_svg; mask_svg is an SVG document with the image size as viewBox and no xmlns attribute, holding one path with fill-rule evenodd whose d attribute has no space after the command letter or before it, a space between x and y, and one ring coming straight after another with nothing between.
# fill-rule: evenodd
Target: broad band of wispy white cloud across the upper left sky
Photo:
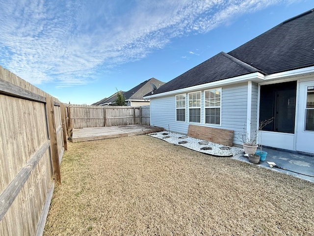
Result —
<instances>
[{"instance_id":1,"label":"broad band of wispy white cloud across the upper left sky","mask_svg":"<svg viewBox=\"0 0 314 236\"><path fill-rule=\"evenodd\" d=\"M0 64L34 84L82 85L100 68L278 2L291 0L0 0Z\"/></svg>"}]
</instances>

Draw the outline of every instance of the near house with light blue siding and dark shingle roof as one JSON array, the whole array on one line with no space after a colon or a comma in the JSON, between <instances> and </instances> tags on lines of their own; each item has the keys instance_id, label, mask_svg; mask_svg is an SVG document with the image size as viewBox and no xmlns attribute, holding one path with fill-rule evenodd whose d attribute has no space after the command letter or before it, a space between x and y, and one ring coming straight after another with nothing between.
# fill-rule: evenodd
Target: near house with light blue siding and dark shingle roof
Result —
<instances>
[{"instance_id":1,"label":"near house with light blue siding and dark shingle roof","mask_svg":"<svg viewBox=\"0 0 314 236\"><path fill-rule=\"evenodd\" d=\"M314 153L314 12L235 50L221 52L153 94L151 125L186 134L189 124L234 130L234 144L259 122L259 143Z\"/></svg>"}]
</instances>

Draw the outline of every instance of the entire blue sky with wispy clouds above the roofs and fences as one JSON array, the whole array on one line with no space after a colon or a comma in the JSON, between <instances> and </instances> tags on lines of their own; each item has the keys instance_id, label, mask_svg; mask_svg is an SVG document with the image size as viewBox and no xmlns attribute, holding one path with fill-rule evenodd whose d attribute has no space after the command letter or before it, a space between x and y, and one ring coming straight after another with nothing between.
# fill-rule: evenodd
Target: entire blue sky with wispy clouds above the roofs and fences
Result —
<instances>
[{"instance_id":1,"label":"entire blue sky with wispy clouds above the roofs and fences","mask_svg":"<svg viewBox=\"0 0 314 236\"><path fill-rule=\"evenodd\" d=\"M168 82L313 0L0 0L0 65L71 104Z\"/></svg>"}]
</instances>

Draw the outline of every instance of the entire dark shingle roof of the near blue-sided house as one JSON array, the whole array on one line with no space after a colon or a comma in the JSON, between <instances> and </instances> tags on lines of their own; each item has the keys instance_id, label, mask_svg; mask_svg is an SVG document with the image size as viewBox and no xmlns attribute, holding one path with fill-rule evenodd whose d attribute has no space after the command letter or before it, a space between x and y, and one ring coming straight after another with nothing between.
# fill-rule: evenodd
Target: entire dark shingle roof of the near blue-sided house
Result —
<instances>
[{"instance_id":1,"label":"entire dark shingle roof of the near blue-sided house","mask_svg":"<svg viewBox=\"0 0 314 236\"><path fill-rule=\"evenodd\" d=\"M228 54L221 52L169 81L154 94L241 75L264 75L314 65L313 9L288 19ZM146 94L149 96L151 94Z\"/></svg>"}]
</instances>

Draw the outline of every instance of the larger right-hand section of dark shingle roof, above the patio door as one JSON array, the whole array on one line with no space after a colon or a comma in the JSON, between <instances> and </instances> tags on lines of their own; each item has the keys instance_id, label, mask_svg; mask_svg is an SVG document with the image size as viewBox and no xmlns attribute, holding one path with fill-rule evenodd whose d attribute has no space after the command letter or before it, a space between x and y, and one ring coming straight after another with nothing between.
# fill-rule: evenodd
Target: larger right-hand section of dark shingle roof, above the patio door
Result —
<instances>
[{"instance_id":1,"label":"larger right-hand section of dark shingle roof, above the patio door","mask_svg":"<svg viewBox=\"0 0 314 236\"><path fill-rule=\"evenodd\" d=\"M314 12L307 11L264 32L229 55L274 74L314 65Z\"/></svg>"}]
</instances>

